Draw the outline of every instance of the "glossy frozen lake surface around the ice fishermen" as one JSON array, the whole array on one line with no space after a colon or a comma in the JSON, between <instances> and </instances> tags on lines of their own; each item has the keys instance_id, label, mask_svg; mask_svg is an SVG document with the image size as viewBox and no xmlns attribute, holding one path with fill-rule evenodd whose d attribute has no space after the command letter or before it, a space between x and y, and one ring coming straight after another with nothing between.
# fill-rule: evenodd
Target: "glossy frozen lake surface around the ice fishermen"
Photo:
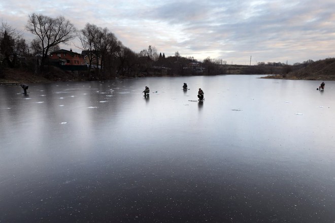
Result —
<instances>
[{"instance_id":1,"label":"glossy frozen lake surface around the ice fishermen","mask_svg":"<svg viewBox=\"0 0 335 223\"><path fill-rule=\"evenodd\" d=\"M257 77L0 86L0 222L335 222L335 82Z\"/></svg>"}]
</instances>

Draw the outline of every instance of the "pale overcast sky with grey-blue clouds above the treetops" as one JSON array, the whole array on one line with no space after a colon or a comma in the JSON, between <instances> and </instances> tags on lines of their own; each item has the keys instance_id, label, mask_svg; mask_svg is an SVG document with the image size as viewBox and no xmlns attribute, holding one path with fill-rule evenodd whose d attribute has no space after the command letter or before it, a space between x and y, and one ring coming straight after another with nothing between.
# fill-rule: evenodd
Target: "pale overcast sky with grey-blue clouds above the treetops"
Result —
<instances>
[{"instance_id":1,"label":"pale overcast sky with grey-blue clouds above the treetops","mask_svg":"<svg viewBox=\"0 0 335 223\"><path fill-rule=\"evenodd\" d=\"M64 16L77 29L107 27L135 52L228 64L303 62L335 57L334 0L0 0L0 19L22 31L31 13ZM78 43L61 46L80 53Z\"/></svg>"}]
</instances>

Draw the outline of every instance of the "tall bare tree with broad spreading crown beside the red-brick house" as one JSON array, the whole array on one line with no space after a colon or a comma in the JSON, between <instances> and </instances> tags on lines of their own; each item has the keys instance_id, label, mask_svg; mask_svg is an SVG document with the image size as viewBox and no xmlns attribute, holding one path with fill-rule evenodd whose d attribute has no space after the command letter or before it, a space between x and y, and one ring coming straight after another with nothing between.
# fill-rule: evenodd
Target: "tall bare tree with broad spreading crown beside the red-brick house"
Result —
<instances>
[{"instance_id":1,"label":"tall bare tree with broad spreading crown beside the red-brick house","mask_svg":"<svg viewBox=\"0 0 335 223\"><path fill-rule=\"evenodd\" d=\"M42 46L42 66L48 57L50 48L73 40L76 37L76 28L63 16L51 18L42 14L30 14L26 29L38 36Z\"/></svg>"}]
</instances>

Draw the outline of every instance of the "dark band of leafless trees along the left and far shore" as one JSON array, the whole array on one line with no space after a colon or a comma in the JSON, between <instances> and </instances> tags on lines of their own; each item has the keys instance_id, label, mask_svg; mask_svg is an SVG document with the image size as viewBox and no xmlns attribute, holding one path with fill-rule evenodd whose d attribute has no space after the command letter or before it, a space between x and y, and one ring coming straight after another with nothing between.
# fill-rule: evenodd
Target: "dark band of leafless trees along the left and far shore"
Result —
<instances>
[{"instance_id":1,"label":"dark band of leafless trees along the left and far shore","mask_svg":"<svg viewBox=\"0 0 335 223\"><path fill-rule=\"evenodd\" d=\"M28 15L25 29L35 36L30 43L21 32L5 22L0 27L0 68L23 67L42 75L48 69L50 53L59 50L60 44L78 39L88 58L87 79L147 76L222 75L226 61L206 58L202 62L193 57L182 57L177 51L165 57L154 46L136 53L124 46L107 27L87 23L78 30L63 16L51 18L42 14ZM39 57L38 70L36 57ZM265 63L257 64L263 66ZM266 64L266 65L269 65ZM273 64L283 66L283 64Z\"/></svg>"}]
</instances>

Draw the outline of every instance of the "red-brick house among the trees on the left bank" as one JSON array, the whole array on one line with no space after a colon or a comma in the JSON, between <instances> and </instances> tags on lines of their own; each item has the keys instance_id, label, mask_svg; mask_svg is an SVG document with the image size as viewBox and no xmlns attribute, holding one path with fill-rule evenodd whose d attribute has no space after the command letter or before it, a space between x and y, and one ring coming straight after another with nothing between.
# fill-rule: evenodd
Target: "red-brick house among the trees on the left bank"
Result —
<instances>
[{"instance_id":1,"label":"red-brick house among the trees on the left bank","mask_svg":"<svg viewBox=\"0 0 335 223\"><path fill-rule=\"evenodd\" d=\"M69 50L57 50L50 53L50 61L57 61L59 65L85 65L84 56Z\"/></svg>"}]
</instances>

